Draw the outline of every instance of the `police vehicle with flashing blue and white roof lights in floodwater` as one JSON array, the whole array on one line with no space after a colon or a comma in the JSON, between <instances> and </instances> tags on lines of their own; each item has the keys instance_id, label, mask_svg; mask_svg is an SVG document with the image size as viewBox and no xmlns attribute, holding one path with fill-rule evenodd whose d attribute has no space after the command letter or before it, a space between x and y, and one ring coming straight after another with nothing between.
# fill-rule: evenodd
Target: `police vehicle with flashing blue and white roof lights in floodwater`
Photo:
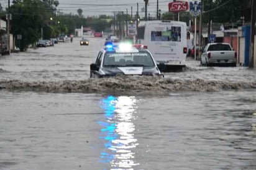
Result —
<instances>
[{"instance_id":1,"label":"police vehicle with flashing blue and white roof lights in floodwater","mask_svg":"<svg viewBox=\"0 0 256 170\"><path fill-rule=\"evenodd\" d=\"M129 43L106 43L90 65L90 78L117 75L163 76L147 49L138 49Z\"/></svg>"}]
</instances>

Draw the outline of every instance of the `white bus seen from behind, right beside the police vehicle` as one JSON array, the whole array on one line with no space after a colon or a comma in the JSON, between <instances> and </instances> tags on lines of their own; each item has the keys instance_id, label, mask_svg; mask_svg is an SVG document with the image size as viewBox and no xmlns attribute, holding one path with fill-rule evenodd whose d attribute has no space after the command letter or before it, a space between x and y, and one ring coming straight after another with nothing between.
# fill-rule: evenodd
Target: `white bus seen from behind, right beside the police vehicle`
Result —
<instances>
[{"instance_id":1,"label":"white bus seen from behind, right beside the police vehicle","mask_svg":"<svg viewBox=\"0 0 256 170\"><path fill-rule=\"evenodd\" d=\"M136 43L147 46L162 71L186 66L186 22L142 21L138 25Z\"/></svg>"}]
</instances>

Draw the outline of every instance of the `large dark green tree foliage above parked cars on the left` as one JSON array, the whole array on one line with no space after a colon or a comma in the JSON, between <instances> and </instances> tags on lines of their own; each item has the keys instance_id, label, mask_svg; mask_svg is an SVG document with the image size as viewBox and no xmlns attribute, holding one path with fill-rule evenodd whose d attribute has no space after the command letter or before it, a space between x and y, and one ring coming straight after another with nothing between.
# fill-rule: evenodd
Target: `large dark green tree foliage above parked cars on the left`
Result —
<instances>
[{"instance_id":1,"label":"large dark green tree foliage above parked cars on the left","mask_svg":"<svg viewBox=\"0 0 256 170\"><path fill-rule=\"evenodd\" d=\"M40 38L50 39L60 34L74 34L76 28L86 24L78 16L56 16L58 1L16 0L11 6L11 34L22 35L21 51L36 43ZM18 41L16 41L18 43ZM16 44L17 46L17 44Z\"/></svg>"}]
</instances>

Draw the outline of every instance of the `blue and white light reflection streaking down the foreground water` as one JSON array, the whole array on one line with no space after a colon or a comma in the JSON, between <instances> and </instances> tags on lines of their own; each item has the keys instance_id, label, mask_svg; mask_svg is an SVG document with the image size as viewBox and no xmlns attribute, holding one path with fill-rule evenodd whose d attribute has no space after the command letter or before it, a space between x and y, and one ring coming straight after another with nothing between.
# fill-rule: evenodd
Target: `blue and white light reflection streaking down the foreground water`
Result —
<instances>
[{"instance_id":1,"label":"blue and white light reflection streaking down the foreground water","mask_svg":"<svg viewBox=\"0 0 256 170\"><path fill-rule=\"evenodd\" d=\"M104 110L104 121L99 121L101 133L99 138L104 140L99 162L109 163L112 169L133 169L139 165L134 161L134 151L139 143L134 138L136 108L135 97L107 96L100 101Z\"/></svg>"}]
</instances>

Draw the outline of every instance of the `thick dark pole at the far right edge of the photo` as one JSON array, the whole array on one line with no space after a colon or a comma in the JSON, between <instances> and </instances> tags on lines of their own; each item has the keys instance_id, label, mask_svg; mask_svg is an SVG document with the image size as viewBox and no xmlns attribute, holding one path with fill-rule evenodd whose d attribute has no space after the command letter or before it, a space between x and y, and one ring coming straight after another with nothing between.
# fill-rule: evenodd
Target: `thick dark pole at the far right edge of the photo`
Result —
<instances>
[{"instance_id":1,"label":"thick dark pole at the far right edge of the photo","mask_svg":"<svg viewBox=\"0 0 256 170\"><path fill-rule=\"evenodd\" d=\"M254 68L256 63L254 58L254 36L255 36L255 15L256 15L256 2L251 1L251 15L250 15L250 56L249 56L249 68Z\"/></svg>"}]
</instances>

